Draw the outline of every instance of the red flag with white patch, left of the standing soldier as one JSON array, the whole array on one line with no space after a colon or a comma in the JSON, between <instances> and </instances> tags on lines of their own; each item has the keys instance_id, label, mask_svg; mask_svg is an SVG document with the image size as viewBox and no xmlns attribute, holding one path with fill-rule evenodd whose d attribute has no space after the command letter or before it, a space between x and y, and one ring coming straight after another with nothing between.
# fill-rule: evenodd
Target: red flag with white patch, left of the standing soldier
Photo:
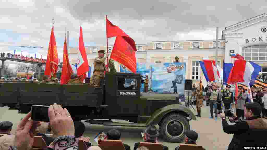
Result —
<instances>
[{"instance_id":1,"label":"red flag with white patch, left of the standing soldier","mask_svg":"<svg viewBox=\"0 0 267 150\"><path fill-rule=\"evenodd\" d=\"M80 80L82 82L85 79L86 73L88 71L89 71L89 65L88 65L87 55L86 55L85 48L84 48L83 30L82 30L82 27L80 27L77 75L80 77Z\"/></svg>"}]
</instances>

